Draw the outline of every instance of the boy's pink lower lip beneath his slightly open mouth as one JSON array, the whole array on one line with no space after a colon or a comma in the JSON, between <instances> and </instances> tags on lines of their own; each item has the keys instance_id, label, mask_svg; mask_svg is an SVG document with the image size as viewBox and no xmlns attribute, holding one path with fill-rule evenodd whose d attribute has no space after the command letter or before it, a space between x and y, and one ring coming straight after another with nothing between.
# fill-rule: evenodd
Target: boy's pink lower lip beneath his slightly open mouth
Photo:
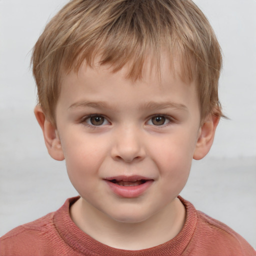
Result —
<instances>
[{"instance_id":1,"label":"boy's pink lower lip beneath his slightly open mouth","mask_svg":"<svg viewBox=\"0 0 256 256\"><path fill-rule=\"evenodd\" d=\"M125 197L125 198L134 198L138 197L142 193L145 192L145 190L148 189L148 187L153 183L153 180L147 180L145 183L135 186L120 186L116 183L113 183L109 180L106 180L106 183L109 185L110 189L118 196Z\"/></svg>"}]
</instances>

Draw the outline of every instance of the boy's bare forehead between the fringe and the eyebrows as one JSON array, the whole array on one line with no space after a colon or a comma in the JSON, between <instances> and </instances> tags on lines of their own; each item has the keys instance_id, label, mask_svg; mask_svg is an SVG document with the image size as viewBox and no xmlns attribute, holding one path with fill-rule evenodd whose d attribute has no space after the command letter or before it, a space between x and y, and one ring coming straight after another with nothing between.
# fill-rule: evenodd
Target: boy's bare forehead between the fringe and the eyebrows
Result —
<instances>
[{"instance_id":1,"label":"boy's bare forehead between the fringe and the eyebrows","mask_svg":"<svg viewBox=\"0 0 256 256\"><path fill-rule=\"evenodd\" d=\"M84 61L77 71L62 72L58 101L65 107L92 106L93 102L103 101L129 108L141 108L142 105L157 108L157 102L162 106L168 105L167 102L179 107L189 107L191 102L198 105L195 83L181 79L179 66L178 60L171 66L166 57L161 58L159 69L150 61L145 61L141 77L132 79L127 76L129 64L114 71L112 65L102 65L97 59L93 66Z\"/></svg>"}]
</instances>

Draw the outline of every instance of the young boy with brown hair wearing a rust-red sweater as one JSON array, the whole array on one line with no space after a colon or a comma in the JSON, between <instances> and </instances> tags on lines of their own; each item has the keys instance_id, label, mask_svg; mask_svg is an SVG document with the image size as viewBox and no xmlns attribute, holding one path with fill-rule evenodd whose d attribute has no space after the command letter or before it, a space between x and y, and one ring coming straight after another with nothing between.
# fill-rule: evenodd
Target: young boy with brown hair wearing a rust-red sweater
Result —
<instances>
[{"instance_id":1,"label":"young boy with brown hair wearing a rust-red sweater","mask_svg":"<svg viewBox=\"0 0 256 256\"><path fill-rule=\"evenodd\" d=\"M71 0L32 55L34 113L79 193L0 255L256 255L178 194L222 116L219 44L190 0Z\"/></svg>"}]
</instances>

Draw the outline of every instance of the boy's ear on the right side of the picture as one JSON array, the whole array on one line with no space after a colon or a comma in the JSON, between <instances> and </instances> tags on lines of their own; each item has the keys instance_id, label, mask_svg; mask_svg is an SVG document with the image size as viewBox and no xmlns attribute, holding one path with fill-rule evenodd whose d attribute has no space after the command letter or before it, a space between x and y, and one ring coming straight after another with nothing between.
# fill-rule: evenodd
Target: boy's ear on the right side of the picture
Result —
<instances>
[{"instance_id":1,"label":"boy's ear on the right side of the picture","mask_svg":"<svg viewBox=\"0 0 256 256\"><path fill-rule=\"evenodd\" d=\"M198 138L194 149L193 158L199 160L203 158L210 150L212 145L219 117L209 114L198 132Z\"/></svg>"}]
</instances>

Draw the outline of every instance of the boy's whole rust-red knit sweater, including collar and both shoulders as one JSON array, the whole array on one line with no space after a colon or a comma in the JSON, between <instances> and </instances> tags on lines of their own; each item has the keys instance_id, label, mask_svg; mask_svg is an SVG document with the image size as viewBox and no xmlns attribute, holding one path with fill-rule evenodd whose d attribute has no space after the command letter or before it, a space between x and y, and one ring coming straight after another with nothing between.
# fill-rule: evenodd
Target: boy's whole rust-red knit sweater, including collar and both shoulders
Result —
<instances>
[{"instance_id":1,"label":"boy's whole rust-red knit sweater, including collar and both shoulders","mask_svg":"<svg viewBox=\"0 0 256 256\"><path fill-rule=\"evenodd\" d=\"M69 198L57 211L20 225L0 238L1 256L111 255L111 256L255 256L256 251L235 231L178 197L186 208L182 230L171 240L142 250L116 249L80 230L69 215L79 197Z\"/></svg>"}]
</instances>

